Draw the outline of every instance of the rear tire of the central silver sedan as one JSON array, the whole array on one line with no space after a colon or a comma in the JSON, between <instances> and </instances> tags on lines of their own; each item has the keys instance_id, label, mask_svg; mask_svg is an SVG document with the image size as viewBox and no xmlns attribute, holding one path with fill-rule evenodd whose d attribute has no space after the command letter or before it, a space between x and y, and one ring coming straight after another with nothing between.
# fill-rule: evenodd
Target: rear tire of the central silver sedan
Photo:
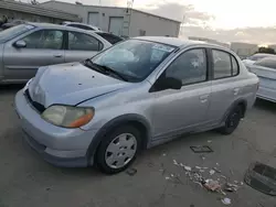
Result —
<instances>
[{"instance_id":1,"label":"rear tire of the central silver sedan","mask_svg":"<svg viewBox=\"0 0 276 207\"><path fill-rule=\"evenodd\" d=\"M224 126L220 128L219 131L225 135L233 133L242 119L242 107L234 107L227 115Z\"/></svg>"}]
</instances>

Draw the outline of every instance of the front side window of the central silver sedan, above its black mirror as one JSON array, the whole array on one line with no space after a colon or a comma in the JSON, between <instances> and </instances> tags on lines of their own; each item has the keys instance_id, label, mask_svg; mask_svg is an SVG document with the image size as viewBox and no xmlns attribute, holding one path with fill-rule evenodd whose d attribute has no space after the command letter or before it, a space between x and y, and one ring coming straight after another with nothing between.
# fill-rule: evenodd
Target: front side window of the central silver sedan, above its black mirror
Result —
<instances>
[{"instance_id":1,"label":"front side window of the central silver sedan, above its black mirror","mask_svg":"<svg viewBox=\"0 0 276 207\"><path fill-rule=\"evenodd\" d=\"M206 55L204 48L194 48L178 56L166 69L166 77L182 80L182 85L206 80Z\"/></svg>"}]
</instances>

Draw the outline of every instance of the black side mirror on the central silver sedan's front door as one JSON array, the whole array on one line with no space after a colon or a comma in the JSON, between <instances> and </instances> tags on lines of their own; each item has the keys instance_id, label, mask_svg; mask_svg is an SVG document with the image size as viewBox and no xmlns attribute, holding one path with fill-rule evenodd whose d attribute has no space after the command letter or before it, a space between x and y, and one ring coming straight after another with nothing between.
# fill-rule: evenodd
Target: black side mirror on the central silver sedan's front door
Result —
<instances>
[{"instance_id":1,"label":"black side mirror on the central silver sedan's front door","mask_svg":"<svg viewBox=\"0 0 276 207\"><path fill-rule=\"evenodd\" d=\"M160 91L166 89L179 90L182 87L182 81L174 77L160 77L152 86L150 91Z\"/></svg>"}]
</instances>

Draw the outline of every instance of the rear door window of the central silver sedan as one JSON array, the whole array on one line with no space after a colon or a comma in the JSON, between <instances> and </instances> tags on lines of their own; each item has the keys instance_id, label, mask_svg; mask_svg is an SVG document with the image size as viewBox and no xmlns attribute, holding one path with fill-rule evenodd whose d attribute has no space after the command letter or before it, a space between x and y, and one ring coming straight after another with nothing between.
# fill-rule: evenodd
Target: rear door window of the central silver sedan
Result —
<instances>
[{"instance_id":1,"label":"rear door window of the central silver sedan","mask_svg":"<svg viewBox=\"0 0 276 207\"><path fill-rule=\"evenodd\" d=\"M232 77L238 74L238 64L233 55L219 50L212 50L212 54L214 79Z\"/></svg>"}]
</instances>

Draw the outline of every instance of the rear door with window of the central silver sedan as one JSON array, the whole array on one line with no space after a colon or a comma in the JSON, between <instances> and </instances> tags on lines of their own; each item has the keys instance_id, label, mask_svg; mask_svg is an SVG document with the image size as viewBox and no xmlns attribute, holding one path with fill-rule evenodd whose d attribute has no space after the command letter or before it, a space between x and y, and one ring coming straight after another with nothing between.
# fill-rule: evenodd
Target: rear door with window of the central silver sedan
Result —
<instances>
[{"instance_id":1,"label":"rear door with window of the central silver sedan","mask_svg":"<svg viewBox=\"0 0 276 207\"><path fill-rule=\"evenodd\" d=\"M212 62L212 96L209 119L213 124L221 122L230 106L242 92L236 58L222 50L210 50Z\"/></svg>"}]
</instances>

